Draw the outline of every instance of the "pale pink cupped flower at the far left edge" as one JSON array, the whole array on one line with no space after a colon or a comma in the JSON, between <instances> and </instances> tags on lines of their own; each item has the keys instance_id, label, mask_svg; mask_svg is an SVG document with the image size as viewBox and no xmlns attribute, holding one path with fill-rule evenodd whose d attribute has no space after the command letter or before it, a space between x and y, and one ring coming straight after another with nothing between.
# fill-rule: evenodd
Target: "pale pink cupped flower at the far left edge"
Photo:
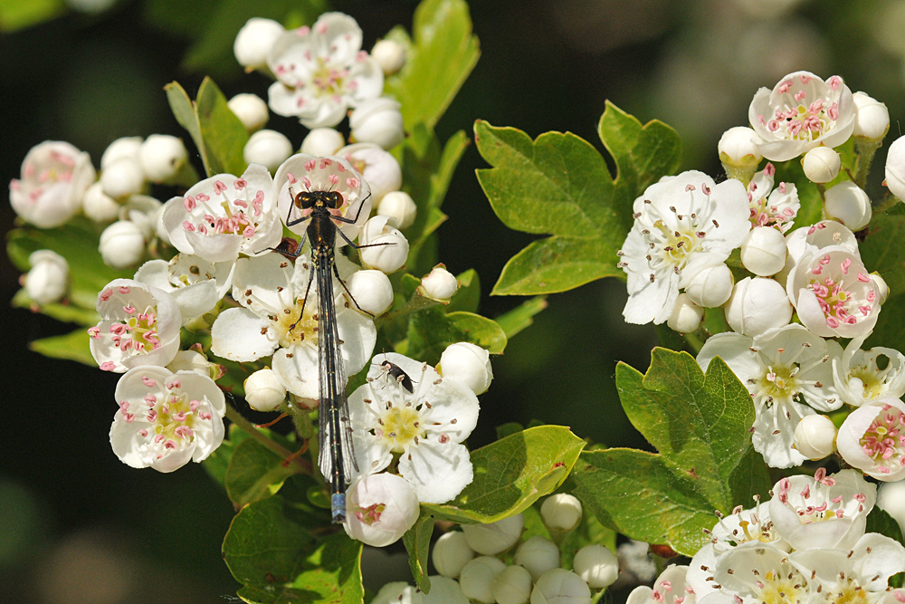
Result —
<instances>
[{"instance_id":1,"label":"pale pink cupped flower at the far left edge","mask_svg":"<svg viewBox=\"0 0 905 604\"><path fill-rule=\"evenodd\" d=\"M35 226L65 225L81 208L95 176L87 153L68 142L45 140L25 155L21 177L9 183L9 201L19 217Z\"/></svg>"}]
</instances>

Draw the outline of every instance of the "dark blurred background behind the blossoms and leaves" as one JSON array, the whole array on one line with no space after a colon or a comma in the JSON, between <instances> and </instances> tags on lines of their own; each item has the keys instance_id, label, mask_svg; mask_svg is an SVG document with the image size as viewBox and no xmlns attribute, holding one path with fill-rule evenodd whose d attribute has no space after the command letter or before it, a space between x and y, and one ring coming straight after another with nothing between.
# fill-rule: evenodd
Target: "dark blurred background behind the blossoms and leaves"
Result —
<instances>
[{"instance_id":1,"label":"dark blurred background behind the blossoms and leaves","mask_svg":"<svg viewBox=\"0 0 905 604\"><path fill-rule=\"evenodd\" d=\"M415 5L331 7L357 19L369 49L395 24L410 29ZM719 179L722 131L747 124L758 87L803 69L824 79L838 73L853 91L886 102L891 139L901 133L900 0L478 0L471 9L481 59L437 125L441 140L471 133L480 118L531 137L571 131L602 150L596 124L608 99L677 129L682 169ZM0 174L18 177L25 153L45 139L87 150L97 167L119 137L184 136L162 90L169 81L194 96L210 74L227 97L266 99L269 81L243 73L233 37L251 16L293 10L287 0L0 0ZM304 136L294 120L271 116L269 127L296 146ZM868 188L875 198L884 157L881 149ZM494 317L522 302L487 294L531 238L493 215L474 177L483 167L472 146L443 206L450 218L439 230L440 258L453 273L478 271L481 312ZM0 216L6 232L14 223L7 203ZM8 301L19 274L5 256L0 271ZM472 447L493 440L501 423L532 419L608 446L643 446L618 406L614 367L621 360L645 370L656 334L624 324L624 301L614 280L551 296L493 360ZM20 309L2 316L0 602L235 601L238 586L219 554L233 516L221 487L199 465L172 475L122 465L108 438L118 376L27 350L70 326Z\"/></svg>"}]
</instances>

